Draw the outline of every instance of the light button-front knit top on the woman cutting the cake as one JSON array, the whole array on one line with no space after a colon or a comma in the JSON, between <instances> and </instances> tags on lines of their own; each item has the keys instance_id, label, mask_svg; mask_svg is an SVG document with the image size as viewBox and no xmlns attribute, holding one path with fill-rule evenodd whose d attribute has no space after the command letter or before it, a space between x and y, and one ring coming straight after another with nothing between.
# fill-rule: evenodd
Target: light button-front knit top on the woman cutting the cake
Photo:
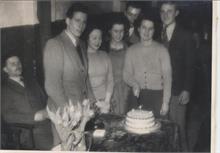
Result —
<instances>
[{"instance_id":1,"label":"light button-front knit top on the woman cutting the cake","mask_svg":"<svg viewBox=\"0 0 220 153\"><path fill-rule=\"evenodd\" d=\"M131 87L164 91L164 101L171 94L171 64L167 49L152 41L148 46L137 43L128 48L123 72Z\"/></svg>"}]
</instances>

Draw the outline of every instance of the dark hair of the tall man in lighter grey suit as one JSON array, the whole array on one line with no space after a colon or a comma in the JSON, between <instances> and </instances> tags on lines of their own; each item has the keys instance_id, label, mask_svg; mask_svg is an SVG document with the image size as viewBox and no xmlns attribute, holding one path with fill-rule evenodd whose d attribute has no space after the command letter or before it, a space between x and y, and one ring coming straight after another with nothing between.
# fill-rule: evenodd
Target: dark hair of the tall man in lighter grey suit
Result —
<instances>
[{"instance_id":1,"label":"dark hair of the tall man in lighter grey suit","mask_svg":"<svg viewBox=\"0 0 220 153\"><path fill-rule=\"evenodd\" d=\"M66 17L72 19L75 12L88 14L88 8L81 3L73 3L66 12Z\"/></svg>"}]
</instances>

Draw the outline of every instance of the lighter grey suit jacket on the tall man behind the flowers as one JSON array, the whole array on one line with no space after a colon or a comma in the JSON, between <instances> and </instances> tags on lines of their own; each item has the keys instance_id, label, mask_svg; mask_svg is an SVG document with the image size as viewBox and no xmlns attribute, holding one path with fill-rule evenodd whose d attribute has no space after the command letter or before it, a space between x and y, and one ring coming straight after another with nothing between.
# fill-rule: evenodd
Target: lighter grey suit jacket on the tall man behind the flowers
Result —
<instances>
[{"instance_id":1,"label":"lighter grey suit jacket on the tall man behind the flowers","mask_svg":"<svg viewBox=\"0 0 220 153\"><path fill-rule=\"evenodd\" d=\"M86 48L81 41L79 46L84 65L65 31L46 44L43 60L45 89L49 97L48 107L52 111L63 107L69 99L73 103L85 98L95 101L88 77Z\"/></svg>"}]
</instances>

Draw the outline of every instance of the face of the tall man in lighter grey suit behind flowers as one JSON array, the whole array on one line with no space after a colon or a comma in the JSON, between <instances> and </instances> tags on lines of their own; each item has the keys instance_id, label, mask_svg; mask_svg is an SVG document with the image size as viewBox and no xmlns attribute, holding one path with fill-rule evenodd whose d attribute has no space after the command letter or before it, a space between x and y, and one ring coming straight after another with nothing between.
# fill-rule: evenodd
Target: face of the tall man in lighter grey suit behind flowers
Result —
<instances>
[{"instance_id":1,"label":"face of the tall man in lighter grey suit behind flowers","mask_svg":"<svg viewBox=\"0 0 220 153\"><path fill-rule=\"evenodd\" d=\"M66 19L67 29L75 37L80 37L82 32L85 30L87 22L87 14L83 12L75 12L73 17Z\"/></svg>"}]
</instances>

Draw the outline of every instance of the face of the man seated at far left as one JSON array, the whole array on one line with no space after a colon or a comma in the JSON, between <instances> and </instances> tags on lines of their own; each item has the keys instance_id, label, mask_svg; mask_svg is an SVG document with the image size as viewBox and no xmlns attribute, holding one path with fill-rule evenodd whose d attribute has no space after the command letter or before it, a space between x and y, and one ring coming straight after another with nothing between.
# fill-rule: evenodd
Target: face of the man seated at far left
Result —
<instances>
[{"instance_id":1,"label":"face of the man seated at far left","mask_svg":"<svg viewBox=\"0 0 220 153\"><path fill-rule=\"evenodd\" d=\"M5 63L4 71L9 77L19 77L22 73L22 66L17 56L9 57Z\"/></svg>"}]
</instances>

